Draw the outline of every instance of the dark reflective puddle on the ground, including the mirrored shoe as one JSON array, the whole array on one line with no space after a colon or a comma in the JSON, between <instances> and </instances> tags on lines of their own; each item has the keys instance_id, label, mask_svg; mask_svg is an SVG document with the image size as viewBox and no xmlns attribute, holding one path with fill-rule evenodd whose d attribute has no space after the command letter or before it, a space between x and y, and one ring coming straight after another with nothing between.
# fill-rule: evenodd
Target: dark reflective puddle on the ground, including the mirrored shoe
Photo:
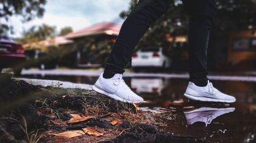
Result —
<instances>
[{"instance_id":1,"label":"dark reflective puddle on the ground, including the mirrored shoe","mask_svg":"<svg viewBox=\"0 0 256 143\"><path fill-rule=\"evenodd\" d=\"M26 78L54 79L94 84L97 76L40 76ZM140 109L157 116L157 128L173 134L191 135L215 142L256 142L256 82L212 80L220 91L237 98L235 104L187 102L183 94L188 79L124 77L146 104Z\"/></svg>"}]
</instances>

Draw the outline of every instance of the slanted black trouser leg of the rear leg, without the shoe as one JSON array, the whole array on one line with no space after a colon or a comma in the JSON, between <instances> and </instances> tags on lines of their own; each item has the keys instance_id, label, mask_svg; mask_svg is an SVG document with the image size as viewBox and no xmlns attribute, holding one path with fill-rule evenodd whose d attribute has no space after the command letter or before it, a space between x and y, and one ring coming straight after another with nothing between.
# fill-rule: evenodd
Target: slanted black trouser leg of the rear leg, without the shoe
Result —
<instances>
[{"instance_id":1,"label":"slanted black trouser leg of the rear leg, without the shoe","mask_svg":"<svg viewBox=\"0 0 256 143\"><path fill-rule=\"evenodd\" d=\"M122 74L123 68L131 60L132 51L153 22L161 17L172 0L140 0L122 24L114 48L105 65L104 78L116 73Z\"/></svg>"}]
</instances>

